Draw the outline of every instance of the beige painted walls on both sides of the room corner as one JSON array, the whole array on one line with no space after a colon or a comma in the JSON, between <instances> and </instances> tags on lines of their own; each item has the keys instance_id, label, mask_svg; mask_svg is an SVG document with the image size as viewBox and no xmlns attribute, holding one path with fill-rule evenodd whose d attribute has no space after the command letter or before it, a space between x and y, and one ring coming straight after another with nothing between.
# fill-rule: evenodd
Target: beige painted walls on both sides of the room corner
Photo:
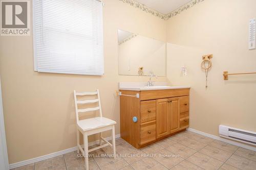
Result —
<instances>
[{"instance_id":1,"label":"beige painted walls on both sides of the room corner","mask_svg":"<svg viewBox=\"0 0 256 170\"><path fill-rule=\"evenodd\" d=\"M103 115L117 121L116 134L120 133L118 82L145 82L148 77L118 76L118 29L169 42L168 79L157 81L191 86L191 128L214 135L220 124L256 131L256 77L233 76L228 81L222 77L223 70L256 69L256 51L248 50L248 20L256 17L254 0L205 0L168 21L118 0L104 3L104 76L35 72L32 35L0 37L10 163L75 147L74 89L99 88ZM203 54L211 53L213 66L206 90L200 63ZM181 76L183 65L188 68L187 77Z\"/></svg>"}]
</instances>

